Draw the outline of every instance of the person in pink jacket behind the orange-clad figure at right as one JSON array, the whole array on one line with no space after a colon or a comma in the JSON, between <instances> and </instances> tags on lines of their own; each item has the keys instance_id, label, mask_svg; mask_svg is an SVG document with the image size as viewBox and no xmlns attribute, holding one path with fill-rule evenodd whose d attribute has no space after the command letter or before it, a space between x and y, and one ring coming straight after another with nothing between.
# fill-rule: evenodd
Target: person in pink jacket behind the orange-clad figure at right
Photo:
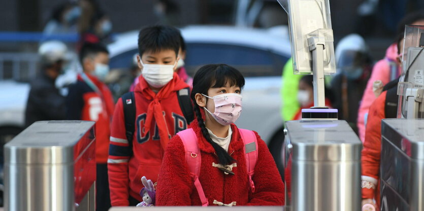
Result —
<instances>
[{"instance_id":1,"label":"person in pink jacket behind the orange-clad figure at right","mask_svg":"<svg viewBox=\"0 0 424 211\"><path fill-rule=\"evenodd\" d=\"M398 34L405 30L405 25L424 25L424 14L422 12L415 12L405 16L399 23ZM398 47L394 43L386 50L384 59L381 59L374 65L358 110L357 128L359 138L362 142L365 140L365 120L368 116L368 109L381 93L379 88L383 88L387 82L399 77L401 74L402 70L399 67L397 57ZM376 82L378 80L381 82Z\"/></svg>"}]
</instances>

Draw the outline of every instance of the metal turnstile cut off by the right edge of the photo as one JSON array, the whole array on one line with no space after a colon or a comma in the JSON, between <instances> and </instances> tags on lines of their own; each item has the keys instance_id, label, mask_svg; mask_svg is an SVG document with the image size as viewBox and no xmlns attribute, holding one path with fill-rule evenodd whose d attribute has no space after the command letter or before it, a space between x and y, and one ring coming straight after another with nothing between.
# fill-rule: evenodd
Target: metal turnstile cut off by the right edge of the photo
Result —
<instances>
[{"instance_id":1,"label":"metal turnstile cut off by the right edge of the photo","mask_svg":"<svg viewBox=\"0 0 424 211\"><path fill-rule=\"evenodd\" d=\"M380 208L424 210L424 119L381 121Z\"/></svg>"}]
</instances>

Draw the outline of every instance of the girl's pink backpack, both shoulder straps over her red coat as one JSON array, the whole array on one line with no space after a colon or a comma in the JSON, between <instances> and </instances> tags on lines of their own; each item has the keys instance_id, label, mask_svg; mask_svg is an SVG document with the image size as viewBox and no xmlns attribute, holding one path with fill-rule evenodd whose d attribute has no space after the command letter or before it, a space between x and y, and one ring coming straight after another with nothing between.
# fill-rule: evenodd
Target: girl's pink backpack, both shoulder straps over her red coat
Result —
<instances>
[{"instance_id":1,"label":"girl's pink backpack, both shoulder straps over her red coat","mask_svg":"<svg viewBox=\"0 0 424 211\"><path fill-rule=\"evenodd\" d=\"M241 138L244 143L244 153L246 158L246 167L247 174L249 175L250 188L252 192L255 192L255 186L253 184L252 176L254 174L254 169L257 161L257 140L253 131L239 129ZM208 199L203 192L202 185L199 181L200 166L202 163L201 153L198 145L198 139L193 129L187 129L177 133L181 138L184 149L185 149L185 159L187 161L188 170L190 171L190 176L193 180L194 187L196 187L200 200L202 201L202 206L208 205Z\"/></svg>"}]
</instances>

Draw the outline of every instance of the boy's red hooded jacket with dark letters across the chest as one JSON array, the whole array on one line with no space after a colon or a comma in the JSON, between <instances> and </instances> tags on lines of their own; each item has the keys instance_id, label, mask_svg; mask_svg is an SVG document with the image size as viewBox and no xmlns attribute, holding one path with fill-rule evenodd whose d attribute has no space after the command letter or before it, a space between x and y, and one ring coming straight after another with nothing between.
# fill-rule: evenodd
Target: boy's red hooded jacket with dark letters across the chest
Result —
<instances>
[{"instance_id":1,"label":"boy's red hooded jacket with dark letters across the chest","mask_svg":"<svg viewBox=\"0 0 424 211\"><path fill-rule=\"evenodd\" d=\"M178 103L177 91L188 85L174 73L174 78L155 94L143 76L134 91L136 122L133 148L125 135L122 100L115 106L108 159L109 188L112 206L128 206L128 196L142 201L141 178L155 183L168 140L187 128ZM161 119L158 119L160 118ZM149 120L150 119L150 120ZM151 122L145 125L145 122ZM149 130L146 130L149 128ZM162 134L159 135L159 134ZM167 134L166 136L164 134ZM162 138L164 137L165 138Z\"/></svg>"}]
</instances>

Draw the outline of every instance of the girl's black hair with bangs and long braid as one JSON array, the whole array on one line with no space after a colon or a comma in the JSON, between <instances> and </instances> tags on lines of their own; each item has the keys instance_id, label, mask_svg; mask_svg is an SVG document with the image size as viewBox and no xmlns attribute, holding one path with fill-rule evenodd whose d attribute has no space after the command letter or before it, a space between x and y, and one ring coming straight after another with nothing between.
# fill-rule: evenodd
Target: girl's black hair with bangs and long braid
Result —
<instances>
[{"instance_id":1,"label":"girl's black hair with bangs and long braid","mask_svg":"<svg viewBox=\"0 0 424 211\"><path fill-rule=\"evenodd\" d=\"M197 93L208 95L208 90L210 88L224 87L227 82L229 82L231 87L236 86L240 87L240 89L244 87L244 77L236 68L226 64L209 64L201 67L196 72L193 78L193 89L191 90L191 99L194 102L194 112L197 116L199 126L202 129L202 134L215 149L219 163L223 165L231 164L235 160L221 146L212 141L208 130L206 130L205 121L202 118L200 112L201 108L196 103L194 96ZM208 98L206 100L208 100Z\"/></svg>"}]
</instances>

